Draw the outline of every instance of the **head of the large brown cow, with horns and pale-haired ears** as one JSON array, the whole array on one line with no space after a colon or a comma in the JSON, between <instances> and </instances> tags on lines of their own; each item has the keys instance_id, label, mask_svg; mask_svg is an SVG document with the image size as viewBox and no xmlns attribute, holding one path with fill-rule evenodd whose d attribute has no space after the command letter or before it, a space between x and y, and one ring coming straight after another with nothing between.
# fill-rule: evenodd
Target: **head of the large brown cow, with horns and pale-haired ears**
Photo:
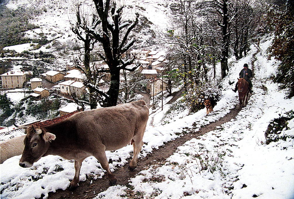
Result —
<instances>
[{"instance_id":1,"label":"head of the large brown cow, with horns and pale-haired ears","mask_svg":"<svg viewBox=\"0 0 294 199\"><path fill-rule=\"evenodd\" d=\"M26 129L24 138L24 151L19 160L19 166L27 168L33 166L48 150L49 142L54 140L56 136L52 133L45 132L35 126L18 126L18 128Z\"/></svg>"}]
</instances>

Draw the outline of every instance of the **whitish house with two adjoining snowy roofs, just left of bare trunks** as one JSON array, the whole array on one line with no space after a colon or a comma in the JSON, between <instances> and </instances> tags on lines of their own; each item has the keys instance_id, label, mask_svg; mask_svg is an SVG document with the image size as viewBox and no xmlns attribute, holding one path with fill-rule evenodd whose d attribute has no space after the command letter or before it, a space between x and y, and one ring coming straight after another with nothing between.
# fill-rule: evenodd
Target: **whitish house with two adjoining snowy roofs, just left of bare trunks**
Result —
<instances>
[{"instance_id":1,"label":"whitish house with two adjoining snowy roofs, just left of bare trunks","mask_svg":"<svg viewBox=\"0 0 294 199\"><path fill-rule=\"evenodd\" d=\"M77 96L83 95L85 90L85 85L82 82L67 80L65 82L59 83L60 85L60 93L64 95L71 95L72 93L76 93Z\"/></svg>"}]
</instances>

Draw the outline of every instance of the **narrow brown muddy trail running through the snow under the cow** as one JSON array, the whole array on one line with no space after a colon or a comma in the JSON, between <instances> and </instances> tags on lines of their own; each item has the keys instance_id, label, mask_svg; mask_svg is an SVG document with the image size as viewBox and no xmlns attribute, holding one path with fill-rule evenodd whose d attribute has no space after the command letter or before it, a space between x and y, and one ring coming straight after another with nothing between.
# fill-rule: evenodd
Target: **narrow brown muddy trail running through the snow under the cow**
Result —
<instances>
[{"instance_id":1,"label":"narrow brown muddy trail running through the snow under the cow","mask_svg":"<svg viewBox=\"0 0 294 199\"><path fill-rule=\"evenodd\" d=\"M253 59L251 60L251 66L254 70L254 62L256 60L255 55L259 52L253 54ZM250 96L248 96L248 101L250 100ZM129 171L128 164L116 169L113 174L117 178L118 185L128 185L130 178L136 176L140 171L148 169L152 165L163 165L166 159L171 156L177 149L178 146L183 145L186 141L191 140L192 138L198 138L209 131L216 129L216 127L221 126L222 124L229 122L231 119L235 118L240 112L241 108L238 103L238 96L236 95L236 105L233 109L230 110L228 114L226 114L223 118L220 118L218 121L211 122L208 125L201 127L198 131L196 131L196 127L192 128L184 128L182 131L182 136L173 141L166 142L163 146L160 146L159 149L153 149L151 154L148 154L145 158L138 159L138 165L135 171ZM209 115L207 116L209 117ZM196 124L195 124L196 125ZM130 161L129 158L128 161ZM74 191L68 190L56 190L55 193L50 192L48 198L49 199L82 199L82 198L94 198L98 195L98 193L105 191L109 187L109 182L107 175L104 175L100 179L94 180L93 178L89 178L87 176L86 181L80 181L79 186ZM41 197L43 198L43 197Z\"/></svg>"}]
</instances>

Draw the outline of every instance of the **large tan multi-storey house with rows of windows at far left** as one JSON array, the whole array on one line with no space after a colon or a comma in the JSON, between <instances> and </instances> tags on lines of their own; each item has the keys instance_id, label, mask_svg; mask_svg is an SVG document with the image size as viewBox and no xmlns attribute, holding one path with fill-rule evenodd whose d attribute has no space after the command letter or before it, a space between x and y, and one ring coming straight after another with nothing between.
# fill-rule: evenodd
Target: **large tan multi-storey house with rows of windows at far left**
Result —
<instances>
[{"instance_id":1,"label":"large tan multi-storey house with rows of windows at far left","mask_svg":"<svg viewBox=\"0 0 294 199\"><path fill-rule=\"evenodd\" d=\"M26 81L26 72L9 71L1 76L3 88L22 88Z\"/></svg>"}]
</instances>

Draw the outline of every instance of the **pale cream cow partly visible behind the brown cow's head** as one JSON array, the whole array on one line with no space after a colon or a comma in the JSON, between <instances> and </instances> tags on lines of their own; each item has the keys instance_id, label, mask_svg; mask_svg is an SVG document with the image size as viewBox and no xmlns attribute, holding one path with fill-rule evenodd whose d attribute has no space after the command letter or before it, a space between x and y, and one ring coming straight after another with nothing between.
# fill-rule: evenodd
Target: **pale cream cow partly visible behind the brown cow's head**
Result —
<instances>
[{"instance_id":1,"label":"pale cream cow partly visible behind the brown cow's head","mask_svg":"<svg viewBox=\"0 0 294 199\"><path fill-rule=\"evenodd\" d=\"M8 158L21 155L24 151L24 135L0 143L0 163Z\"/></svg>"}]
</instances>

